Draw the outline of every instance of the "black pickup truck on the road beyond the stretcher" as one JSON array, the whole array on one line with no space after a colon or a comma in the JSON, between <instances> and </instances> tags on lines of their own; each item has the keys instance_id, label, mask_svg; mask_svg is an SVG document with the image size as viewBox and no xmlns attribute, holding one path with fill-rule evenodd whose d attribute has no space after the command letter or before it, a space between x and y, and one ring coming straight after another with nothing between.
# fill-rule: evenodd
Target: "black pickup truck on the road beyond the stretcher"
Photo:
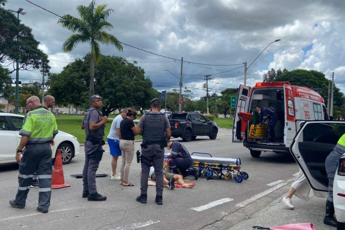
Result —
<instances>
[{"instance_id":1,"label":"black pickup truck on the road beyond the stretcher","mask_svg":"<svg viewBox=\"0 0 345 230\"><path fill-rule=\"evenodd\" d=\"M184 141L194 140L197 136L217 138L216 122L206 119L199 113L172 113L169 117L172 137L181 137Z\"/></svg>"}]
</instances>

